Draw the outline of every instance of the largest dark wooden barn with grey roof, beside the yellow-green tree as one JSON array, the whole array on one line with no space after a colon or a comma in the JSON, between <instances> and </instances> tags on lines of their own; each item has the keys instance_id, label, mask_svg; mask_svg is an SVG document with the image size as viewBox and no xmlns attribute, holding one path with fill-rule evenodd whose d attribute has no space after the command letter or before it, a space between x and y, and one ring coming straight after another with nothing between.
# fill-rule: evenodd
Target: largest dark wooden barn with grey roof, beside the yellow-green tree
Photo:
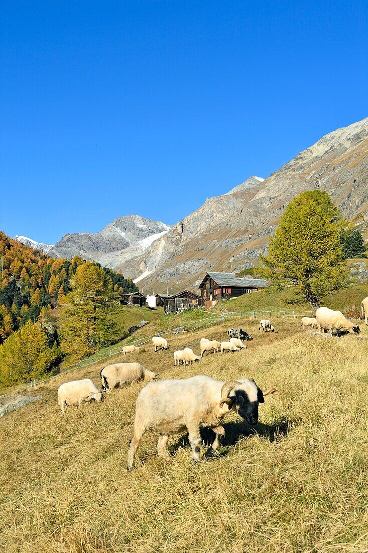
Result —
<instances>
[{"instance_id":1,"label":"largest dark wooden barn with grey roof, beside the yellow-green tree","mask_svg":"<svg viewBox=\"0 0 368 553\"><path fill-rule=\"evenodd\" d=\"M238 298L266 288L267 281L255 278L240 278L235 273L206 273L199 284L206 309L222 299Z\"/></svg>"}]
</instances>

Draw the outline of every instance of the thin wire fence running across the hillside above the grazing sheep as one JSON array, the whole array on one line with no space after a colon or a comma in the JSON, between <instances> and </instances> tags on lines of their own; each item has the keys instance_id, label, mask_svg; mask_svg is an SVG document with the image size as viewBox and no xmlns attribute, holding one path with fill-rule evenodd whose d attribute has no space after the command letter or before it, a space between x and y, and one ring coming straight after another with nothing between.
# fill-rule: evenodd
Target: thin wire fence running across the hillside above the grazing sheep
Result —
<instances>
[{"instance_id":1,"label":"thin wire fence running across the hillside above the grazing sheep","mask_svg":"<svg viewBox=\"0 0 368 553\"><path fill-rule=\"evenodd\" d=\"M297 311L287 311L287 310L271 310L271 311L225 311L222 314L216 314L206 317L202 320L187 322L185 327L183 325L179 325L174 328L170 328L168 330L164 330L161 332L156 332L152 336L148 337L142 337L142 338L136 338L136 340L129 340L129 346L144 346L146 343L150 342L154 336L166 336L166 335L172 335L176 336L179 333L185 333L185 332L194 332L196 330L201 330L201 328L207 328L210 326L213 326L215 324L219 324L220 322L225 322L231 319L257 319L261 318L264 319L266 316L269 317L283 317L283 318L293 318L297 319L299 317L305 317L308 315L313 315L313 311L303 311L303 312L297 312ZM124 345L124 344L123 344ZM94 363L98 363L99 361L104 361L104 359L110 359L114 357L115 355L118 355L122 353L122 347L123 345L120 343L119 346L112 346L107 351L102 351L101 353L97 353L95 356L88 357L86 359L82 359L82 361L78 361L78 363L75 363L73 365L70 365L69 367L65 367L61 369L57 374L52 375L51 377L44 378L43 380L33 380L29 384L26 385L20 385L19 387L15 388L13 390L13 393L16 392L19 389L27 389L27 388L35 388L39 384L44 384L46 382L50 382L50 380L54 380L55 378L60 377L62 374L67 374L71 371L75 371L75 369L79 368L85 368L90 367ZM0 395L0 398L6 397L8 394Z\"/></svg>"}]
</instances>

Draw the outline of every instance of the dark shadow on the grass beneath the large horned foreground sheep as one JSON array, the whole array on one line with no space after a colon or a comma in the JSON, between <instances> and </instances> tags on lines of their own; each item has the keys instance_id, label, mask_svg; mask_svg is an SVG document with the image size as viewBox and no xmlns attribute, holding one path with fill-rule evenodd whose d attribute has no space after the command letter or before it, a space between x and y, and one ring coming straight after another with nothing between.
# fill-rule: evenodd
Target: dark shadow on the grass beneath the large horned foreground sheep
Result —
<instances>
[{"instance_id":1,"label":"dark shadow on the grass beneath the large horned foreground sheep","mask_svg":"<svg viewBox=\"0 0 368 553\"><path fill-rule=\"evenodd\" d=\"M224 457L231 451L230 446L234 446L239 440L243 438L250 438L257 435L264 437L271 442L278 442L282 440L288 432L291 430L292 422L287 419L282 419L275 422L275 424L264 424L259 422L255 426L249 426L246 422L235 421L227 422L224 425L225 440L221 446L221 451L216 453L216 457ZM209 428L201 428L202 442L206 446L210 446L214 439L215 433ZM174 454L180 447L189 447L188 434L182 436L169 450L171 454Z\"/></svg>"}]
</instances>

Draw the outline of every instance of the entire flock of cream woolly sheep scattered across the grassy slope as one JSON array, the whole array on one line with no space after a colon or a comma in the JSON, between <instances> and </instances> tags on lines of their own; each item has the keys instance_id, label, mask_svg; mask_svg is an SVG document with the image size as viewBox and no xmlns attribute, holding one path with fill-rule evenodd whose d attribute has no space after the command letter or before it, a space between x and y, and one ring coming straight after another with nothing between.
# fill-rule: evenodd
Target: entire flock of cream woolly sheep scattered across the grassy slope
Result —
<instances>
[{"instance_id":1,"label":"entire flock of cream woolly sheep scattered across the grassy slope","mask_svg":"<svg viewBox=\"0 0 368 553\"><path fill-rule=\"evenodd\" d=\"M368 297L361 303L362 315L368 324ZM336 333L359 333L359 326L353 325L340 311L320 307L316 317L303 317L302 328L317 327L319 331ZM275 328L268 319L262 319L259 331L274 332ZM188 366L192 362L201 361L204 354L211 352L236 352L245 349L244 341L253 338L241 328L228 330L228 341L218 342L201 338L201 356L197 356L191 348L174 352L174 364ZM152 338L154 351L169 348L165 338ZM124 346L123 354L138 351L139 347ZM205 458L212 457L219 444L224 440L225 431L222 419L229 410L235 411L248 424L258 421L258 405L264 403L266 395L278 393L275 388L261 390L253 379L240 378L222 382L204 375L185 379L160 380L160 374L149 371L140 363L115 363L104 367L101 371L101 391L91 379L75 380L62 384L57 390L61 413L67 406L78 405L85 401L102 401L103 394L111 393L116 387L133 384L142 379L151 380L141 389L136 399L133 437L129 443L128 470L134 465L134 457L141 437L146 430L160 432L157 451L164 458L169 457L167 440L174 432L188 431L192 448L192 461L199 461L199 444L201 436L199 429L209 427L214 431L215 440L208 448Z\"/></svg>"}]
</instances>

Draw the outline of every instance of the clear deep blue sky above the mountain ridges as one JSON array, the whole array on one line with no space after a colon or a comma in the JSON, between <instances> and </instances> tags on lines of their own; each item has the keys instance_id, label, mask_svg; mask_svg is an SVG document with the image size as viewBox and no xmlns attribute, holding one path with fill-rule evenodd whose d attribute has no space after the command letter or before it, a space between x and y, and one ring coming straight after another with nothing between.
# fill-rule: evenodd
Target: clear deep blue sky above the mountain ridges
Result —
<instances>
[{"instance_id":1,"label":"clear deep blue sky above the mountain ridges","mask_svg":"<svg viewBox=\"0 0 368 553\"><path fill-rule=\"evenodd\" d=\"M368 116L363 1L7 1L0 229L175 223Z\"/></svg>"}]
</instances>

